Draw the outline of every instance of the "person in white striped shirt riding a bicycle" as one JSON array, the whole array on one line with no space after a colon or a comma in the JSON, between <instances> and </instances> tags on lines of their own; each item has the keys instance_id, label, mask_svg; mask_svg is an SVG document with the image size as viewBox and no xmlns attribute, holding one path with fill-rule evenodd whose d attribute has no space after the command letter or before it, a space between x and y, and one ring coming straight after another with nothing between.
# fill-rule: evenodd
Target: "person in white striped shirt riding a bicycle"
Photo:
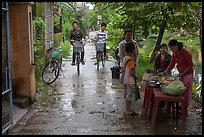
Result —
<instances>
[{"instance_id":1,"label":"person in white striped shirt riding a bicycle","mask_svg":"<svg viewBox=\"0 0 204 137\"><path fill-rule=\"evenodd\" d=\"M97 43L103 43L104 44L104 57L107 58L106 56L106 41L108 40L108 31L106 30L106 23L101 24L101 29L96 31L96 36L94 39L97 39ZM96 52L96 60L97 60L97 55L98 53ZM95 65L97 64L97 61Z\"/></svg>"}]
</instances>

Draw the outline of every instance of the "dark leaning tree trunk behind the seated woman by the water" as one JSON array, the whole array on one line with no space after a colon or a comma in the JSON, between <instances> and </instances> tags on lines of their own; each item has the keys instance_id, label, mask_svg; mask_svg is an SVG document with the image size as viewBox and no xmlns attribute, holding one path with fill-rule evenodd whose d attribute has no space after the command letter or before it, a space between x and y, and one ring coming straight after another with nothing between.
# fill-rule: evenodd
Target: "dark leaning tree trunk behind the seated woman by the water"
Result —
<instances>
[{"instance_id":1,"label":"dark leaning tree trunk behind the seated woman by the water","mask_svg":"<svg viewBox=\"0 0 204 137\"><path fill-rule=\"evenodd\" d=\"M162 20L162 24L160 26L160 31L159 31L159 35L157 38L157 42L156 42L155 48L154 48L152 55L151 55L150 63L154 61L154 59L156 57L156 53L159 50L159 45L161 44L166 24L167 24L167 16L164 17L164 19Z\"/></svg>"}]
</instances>

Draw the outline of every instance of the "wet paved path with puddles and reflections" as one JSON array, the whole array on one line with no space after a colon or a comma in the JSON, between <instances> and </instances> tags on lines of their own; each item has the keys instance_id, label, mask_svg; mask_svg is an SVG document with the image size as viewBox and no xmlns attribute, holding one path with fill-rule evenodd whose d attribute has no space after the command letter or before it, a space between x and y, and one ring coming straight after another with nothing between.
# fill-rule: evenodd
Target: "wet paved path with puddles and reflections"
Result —
<instances>
[{"instance_id":1,"label":"wet paved path with puddles and reflections","mask_svg":"<svg viewBox=\"0 0 204 137\"><path fill-rule=\"evenodd\" d=\"M143 92L141 100L134 102L139 115L124 115L123 85L120 79L112 79L110 70L115 60L109 55L105 67L97 71L95 47L87 43L85 62L78 76L71 56L64 59L65 77L61 75L37 93L32 109L8 135L202 135L202 117L196 111L200 104L192 102L186 127L161 109L151 129L151 118L143 117Z\"/></svg>"}]
</instances>

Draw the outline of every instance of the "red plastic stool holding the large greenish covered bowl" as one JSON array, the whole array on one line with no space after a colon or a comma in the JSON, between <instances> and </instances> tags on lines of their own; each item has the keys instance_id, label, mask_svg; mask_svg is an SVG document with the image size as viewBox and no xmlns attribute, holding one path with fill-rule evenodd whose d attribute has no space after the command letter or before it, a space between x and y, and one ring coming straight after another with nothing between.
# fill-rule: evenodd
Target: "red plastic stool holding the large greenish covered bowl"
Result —
<instances>
[{"instance_id":1,"label":"red plastic stool holding the large greenish covered bowl","mask_svg":"<svg viewBox=\"0 0 204 137\"><path fill-rule=\"evenodd\" d=\"M185 119L187 116L187 104L184 96L169 96L165 95L161 89L153 89L153 95L154 95L154 104L153 104L153 113L152 113L152 121L151 121L151 127L154 128L155 121L157 117L157 111L159 102L165 101L167 103L175 103L179 102L181 103L181 119L182 119L182 125L185 125Z\"/></svg>"}]
</instances>

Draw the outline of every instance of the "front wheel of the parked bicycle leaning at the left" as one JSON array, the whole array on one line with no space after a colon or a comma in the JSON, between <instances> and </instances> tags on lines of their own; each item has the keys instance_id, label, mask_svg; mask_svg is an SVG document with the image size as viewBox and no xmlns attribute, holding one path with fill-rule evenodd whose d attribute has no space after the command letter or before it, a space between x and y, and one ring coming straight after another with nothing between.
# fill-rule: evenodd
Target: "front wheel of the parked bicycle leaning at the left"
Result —
<instances>
[{"instance_id":1,"label":"front wheel of the parked bicycle leaning at the left","mask_svg":"<svg viewBox=\"0 0 204 137\"><path fill-rule=\"evenodd\" d=\"M59 63L51 59L44 67L42 79L45 84L52 84L59 76Z\"/></svg>"}]
</instances>

